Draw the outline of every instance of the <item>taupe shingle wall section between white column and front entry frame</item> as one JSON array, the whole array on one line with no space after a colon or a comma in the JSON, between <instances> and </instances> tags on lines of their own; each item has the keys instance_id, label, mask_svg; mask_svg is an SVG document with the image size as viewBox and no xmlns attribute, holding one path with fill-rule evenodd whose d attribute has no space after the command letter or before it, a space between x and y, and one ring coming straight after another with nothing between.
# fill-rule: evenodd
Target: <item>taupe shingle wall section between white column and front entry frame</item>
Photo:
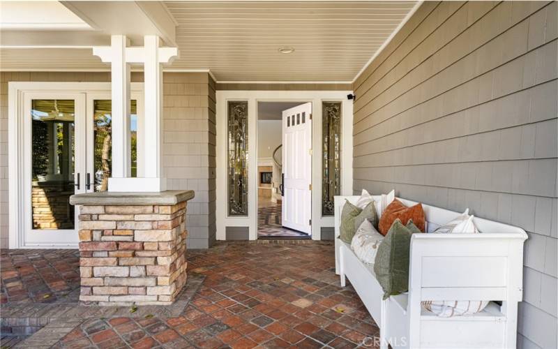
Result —
<instances>
[{"instance_id":1,"label":"taupe shingle wall section between white column and front entry frame","mask_svg":"<svg viewBox=\"0 0 558 349\"><path fill-rule=\"evenodd\" d=\"M188 248L215 242L215 82L208 73L165 73L163 156L167 188L188 188Z\"/></svg>"}]
</instances>

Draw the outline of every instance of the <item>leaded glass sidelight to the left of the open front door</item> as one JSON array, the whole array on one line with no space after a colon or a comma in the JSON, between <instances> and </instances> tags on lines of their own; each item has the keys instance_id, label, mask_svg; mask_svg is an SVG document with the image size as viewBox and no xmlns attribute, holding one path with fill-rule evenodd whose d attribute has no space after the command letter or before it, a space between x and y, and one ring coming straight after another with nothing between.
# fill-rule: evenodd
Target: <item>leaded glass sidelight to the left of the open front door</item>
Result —
<instances>
[{"instance_id":1,"label":"leaded glass sidelight to the left of the open front door","mask_svg":"<svg viewBox=\"0 0 558 349\"><path fill-rule=\"evenodd\" d=\"M229 101L227 109L229 216L248 216L248 101Z\"/></svg>"}]
</instances>

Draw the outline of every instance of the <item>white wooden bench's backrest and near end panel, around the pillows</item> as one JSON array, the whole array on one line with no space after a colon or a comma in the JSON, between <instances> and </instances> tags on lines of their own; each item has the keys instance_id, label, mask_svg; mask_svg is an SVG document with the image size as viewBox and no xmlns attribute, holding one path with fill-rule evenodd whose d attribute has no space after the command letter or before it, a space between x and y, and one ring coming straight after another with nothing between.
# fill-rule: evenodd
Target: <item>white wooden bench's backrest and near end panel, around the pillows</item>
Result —
<instances>
[{"instance_id":1,"label":"white wooden bench's backrest and near end panel, around the pillows","mask_svg":"<svg viewBox=\"0 0 558 349\"><path fill-rule=\"evenodd\" d=\"M373 196L379 200L379 196ZM335 196L335 237L345 200ZM417 202L398 198L407 207ZM462 212L424 205L427 232L433 232ZM421 300L514 300L522 298L525 230L474 217L480 234L416 234L412 237L409 290ZM480 239L479 239L480 238ZM512 292L512 293L510 293ZM411 299L409 299L410 301Z\"/></svg>"}]
</instances>

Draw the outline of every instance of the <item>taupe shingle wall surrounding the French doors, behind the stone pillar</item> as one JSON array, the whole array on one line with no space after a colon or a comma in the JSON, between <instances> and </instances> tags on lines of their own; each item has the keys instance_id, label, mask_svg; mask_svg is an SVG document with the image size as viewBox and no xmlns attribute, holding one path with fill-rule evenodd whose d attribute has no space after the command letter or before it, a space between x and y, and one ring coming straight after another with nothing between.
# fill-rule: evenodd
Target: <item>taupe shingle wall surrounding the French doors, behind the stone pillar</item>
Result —
<instances>
[{"instance_id":1,"label":"taupe shingle wall surrounding the French doors, behind the stone pillar","mask_svg":"<svg viewBox=\"0 0 558 349\"><path fill-rule=\"evenodd\" d=\"M0 73L0 248L8 248L8 82L110 82L110 73ZM142 73L132 74L142 82ZM208 73L163 74L163 166L169 189L192 189L188 248L215 241L215 82Z\"/></svg>"}]
</instances>

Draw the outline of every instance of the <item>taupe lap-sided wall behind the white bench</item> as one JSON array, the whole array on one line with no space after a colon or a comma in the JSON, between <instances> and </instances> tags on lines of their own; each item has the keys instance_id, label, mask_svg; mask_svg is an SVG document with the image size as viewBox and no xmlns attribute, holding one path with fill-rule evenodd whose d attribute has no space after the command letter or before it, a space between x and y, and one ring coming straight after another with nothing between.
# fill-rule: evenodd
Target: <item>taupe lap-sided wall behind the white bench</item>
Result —
<instances>
[{"instance_id":1,"label":"taupe lap-sided wall behind the white bench","mask_svg":"<svg viewBox=\"0 0 558 349\"><path fill-rule=\"evenodd\" d=\"M353 87L354 193L528 232L520 348L557 348L557 6L425 1Z\"/></svg>"}]
</instances>

